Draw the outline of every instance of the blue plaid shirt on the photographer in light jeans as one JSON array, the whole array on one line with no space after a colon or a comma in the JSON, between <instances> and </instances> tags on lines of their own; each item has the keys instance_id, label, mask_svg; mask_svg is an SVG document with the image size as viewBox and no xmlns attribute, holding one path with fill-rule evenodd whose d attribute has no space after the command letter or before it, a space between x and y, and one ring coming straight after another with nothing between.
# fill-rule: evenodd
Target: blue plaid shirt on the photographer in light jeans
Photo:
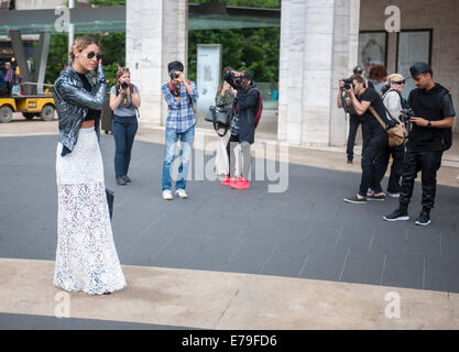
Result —
<instances>
[{"instance_id":1,"label":"blue plaid shirt on the photographer in light jeans","mask_svg":"<svg viewBox=\"0 0 459 352\"><path fill-rule=\"evenodd\" d=\"M190 100L196 100L199 98L199 95L195 82L190 81L189 85L193 88L193 94L190 95L187 94L185 86L181 84L179 101L176 101L172 95L168 82L161 87L164 99L168 106L166 128L175 130L176 133L186 132L196 124L196 117L195 112L193 111L193 105L190 103Z\"/></svg>"}]
</instances>

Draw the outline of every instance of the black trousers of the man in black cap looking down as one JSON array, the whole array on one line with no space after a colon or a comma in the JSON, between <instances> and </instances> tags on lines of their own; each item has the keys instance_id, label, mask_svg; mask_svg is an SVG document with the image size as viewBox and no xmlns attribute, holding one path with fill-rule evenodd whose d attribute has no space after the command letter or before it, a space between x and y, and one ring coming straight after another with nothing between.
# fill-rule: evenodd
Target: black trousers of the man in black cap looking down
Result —
<instances>
[{"instance_id":1,"label":"black trousers of the man in black cap looking down","mask_svg":"<svg viewBox=\"0 0 459 352\"><path fill-rule=\"evenodd\" d=\"M433 209L437 191L437 172L441 166L442 152L406 151L405 166L402 175L401 205L408 206L413 196L417 173L422 173L424 208Z\"/></svg>"}]
</instances>

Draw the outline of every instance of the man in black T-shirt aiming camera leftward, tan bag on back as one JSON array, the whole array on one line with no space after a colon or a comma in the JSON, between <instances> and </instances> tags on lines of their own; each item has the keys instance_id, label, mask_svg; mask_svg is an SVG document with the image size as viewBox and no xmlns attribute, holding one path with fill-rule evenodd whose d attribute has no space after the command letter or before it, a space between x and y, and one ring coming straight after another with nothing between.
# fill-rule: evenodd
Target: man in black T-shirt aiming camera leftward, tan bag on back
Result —
<instances>
[{"instance_id":1,"label":"man in black T-shirt aiming camera leftward, tan bag on back","mask_svg":"<svg viewBox=\"0 0 459 352\"><path fill-rule=\"evenodd\" d=\"M340 80L340 91L338 92L338 108L342 108L340 96L342 90L349 96L350 101L359 117L362 119L362 128L368 133L363 139L362 153L362 177L360 189L357 196L345 198L350 204L367 204L367 200L385 200L382 191L381 179L386 169L387 132L380 124L371 112L371 109L380 116L385 128L390 129L397 122L389 120L383 101L373 88L364 88L364 80L360 75L353 75L350 79ZM367 195L369 186L373 187L374 193Z\"/></svg>"}]
</instances>

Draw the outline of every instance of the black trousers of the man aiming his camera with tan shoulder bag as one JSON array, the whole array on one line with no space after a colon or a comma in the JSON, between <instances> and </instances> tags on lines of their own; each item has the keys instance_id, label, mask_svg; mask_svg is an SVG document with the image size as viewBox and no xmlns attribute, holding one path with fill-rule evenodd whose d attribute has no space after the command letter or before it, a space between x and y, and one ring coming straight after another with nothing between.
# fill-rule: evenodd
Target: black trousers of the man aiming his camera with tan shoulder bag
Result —
<instances>
[{"instance_id":1,"label":"black trousers of the man aiming his camera with tan shoulder bag","mask_svg":"<svg viewBox=\"0 0 459 352\"><path fill-rule=\"evenodd\" d=\"M362 155L362 177L359 195L367 197L368 188L375 194L382 193L381 180L387 169L387 134L378 133L368 136Z\"/></svg>"}]
</instances>

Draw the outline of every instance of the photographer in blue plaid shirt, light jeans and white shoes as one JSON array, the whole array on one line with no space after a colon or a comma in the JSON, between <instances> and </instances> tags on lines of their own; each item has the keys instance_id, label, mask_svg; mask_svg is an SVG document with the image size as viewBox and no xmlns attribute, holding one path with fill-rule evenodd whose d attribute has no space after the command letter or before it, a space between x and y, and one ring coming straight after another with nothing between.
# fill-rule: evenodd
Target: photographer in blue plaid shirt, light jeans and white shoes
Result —
<instances>
[{"instance_id":1,"label":"photographer in blue plaid shirt, light jeans and white shoes","mask_svg":"<svg viewBox=\"0 0 459 352\"><path fill-rule=\"evenodd\" d=\"M166 119L166 140L164 145L162 197L172 200L172 165L175 160L175 150L181 140L182 156L178 167L178 178L175 182L175 194L181 199L187 198L185 191L189 160L192 157L193 141L195 138L196 117L193 110L193 101L199 95L194 81L185 79L184 65L181 62L172 62L167 65L171 81L162 86L164 99L168 106Z\"/></svg>"}]
</instances>

